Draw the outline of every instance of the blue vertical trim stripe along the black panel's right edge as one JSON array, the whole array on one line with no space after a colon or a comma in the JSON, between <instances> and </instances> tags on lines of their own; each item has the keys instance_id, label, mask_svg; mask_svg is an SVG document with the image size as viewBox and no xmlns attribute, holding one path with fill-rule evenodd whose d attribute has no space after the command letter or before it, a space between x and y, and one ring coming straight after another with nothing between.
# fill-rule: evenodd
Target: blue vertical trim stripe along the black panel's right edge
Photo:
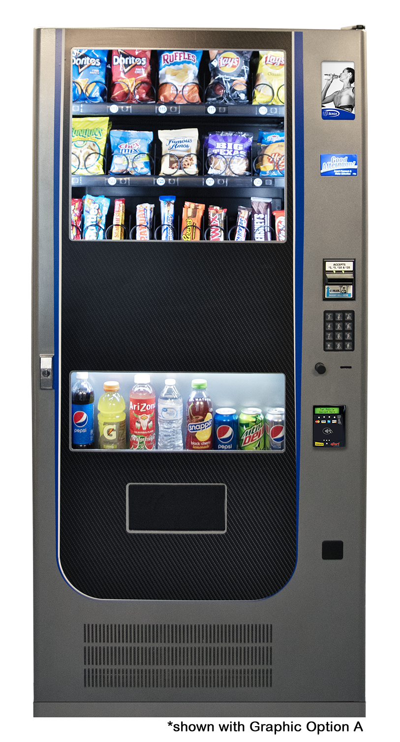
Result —
<instances>
[{"instance_id":1,"label":"blue vertical trim stripe along the black panel's right edge","mask_svg":"<svg viewBox=\"0 0 400 742\"><path fill-rule=\"evenodd\" d=\"M303 33L295 31L295 406L296 406L296 490L297 513L300 485L301 431L301 344L303 338L304 258L304 88ZM298 515L297 515L298 518Z\"/></svg>"}]
</instances>

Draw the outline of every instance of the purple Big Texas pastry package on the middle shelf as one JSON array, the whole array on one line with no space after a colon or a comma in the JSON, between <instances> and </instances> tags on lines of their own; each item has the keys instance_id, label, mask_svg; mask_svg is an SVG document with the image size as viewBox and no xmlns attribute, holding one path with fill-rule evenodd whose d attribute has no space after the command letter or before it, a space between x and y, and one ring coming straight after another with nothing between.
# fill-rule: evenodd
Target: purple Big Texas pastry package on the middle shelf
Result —
<instances>
[{"instance_id":1,"label":"purple Big Texas pastry package on the middle shelf","mask_svg":"<svg viewBox=\"0 0 400 742\"><path fill-rule=\"evenodd\" d=\"M211 131L204 142L210 175L250 175L253 135L243 131Z\"/></svg>"}]
</instances>

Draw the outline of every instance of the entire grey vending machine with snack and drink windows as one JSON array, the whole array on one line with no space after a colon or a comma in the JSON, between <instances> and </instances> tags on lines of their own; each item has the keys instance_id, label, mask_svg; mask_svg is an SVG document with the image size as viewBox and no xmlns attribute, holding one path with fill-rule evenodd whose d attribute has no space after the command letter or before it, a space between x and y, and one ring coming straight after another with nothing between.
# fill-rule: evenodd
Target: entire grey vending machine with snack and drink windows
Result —
<instances>
[{"instance_id":1,"label":"entire grey vending machine with snack and drink windows","mask_svg":"<svg viewBox=\"0 0 400 742\"><path fill-rule=\"evenodd\" d=\"M35 30L37 717L365 715L366 53Z\"/></svg>"}]
</instances>

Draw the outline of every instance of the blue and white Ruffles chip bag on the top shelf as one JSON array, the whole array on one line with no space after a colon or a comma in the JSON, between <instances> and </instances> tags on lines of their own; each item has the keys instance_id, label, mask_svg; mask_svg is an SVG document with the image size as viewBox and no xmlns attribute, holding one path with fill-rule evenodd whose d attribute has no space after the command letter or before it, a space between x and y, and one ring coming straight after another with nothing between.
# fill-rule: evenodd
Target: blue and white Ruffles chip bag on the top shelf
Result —
<instances>
[{"instance_id":1,"label":"blue and white Ruffles chip bag on the top shelf","mask_svg":"<svg viewBox=\"0 0 400 742\"><path fill-rule=\"evenodd\" d=\"M159 51L158 99L162 103L200 103L202 51Z\"/></svg>"}]
</instances>

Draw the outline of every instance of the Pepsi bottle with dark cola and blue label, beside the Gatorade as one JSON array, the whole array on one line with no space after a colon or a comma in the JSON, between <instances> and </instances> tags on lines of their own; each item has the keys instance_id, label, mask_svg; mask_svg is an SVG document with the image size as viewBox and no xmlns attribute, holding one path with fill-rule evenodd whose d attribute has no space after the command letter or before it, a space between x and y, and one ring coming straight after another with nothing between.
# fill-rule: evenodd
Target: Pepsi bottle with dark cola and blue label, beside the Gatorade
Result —
<instances>
[{"instance_id":1,"label":"Pepsi bottle with dark cola and blue label, beside the Gatorade","mask_svg":"<svg viewBox=\"0 0 400 742\"><path fill-rule=\"evenodd\" d=\"M72 387L71 444L73 448L94 448L94 390L88 372L79 371Z\"/></svg>"}]
</instances>

